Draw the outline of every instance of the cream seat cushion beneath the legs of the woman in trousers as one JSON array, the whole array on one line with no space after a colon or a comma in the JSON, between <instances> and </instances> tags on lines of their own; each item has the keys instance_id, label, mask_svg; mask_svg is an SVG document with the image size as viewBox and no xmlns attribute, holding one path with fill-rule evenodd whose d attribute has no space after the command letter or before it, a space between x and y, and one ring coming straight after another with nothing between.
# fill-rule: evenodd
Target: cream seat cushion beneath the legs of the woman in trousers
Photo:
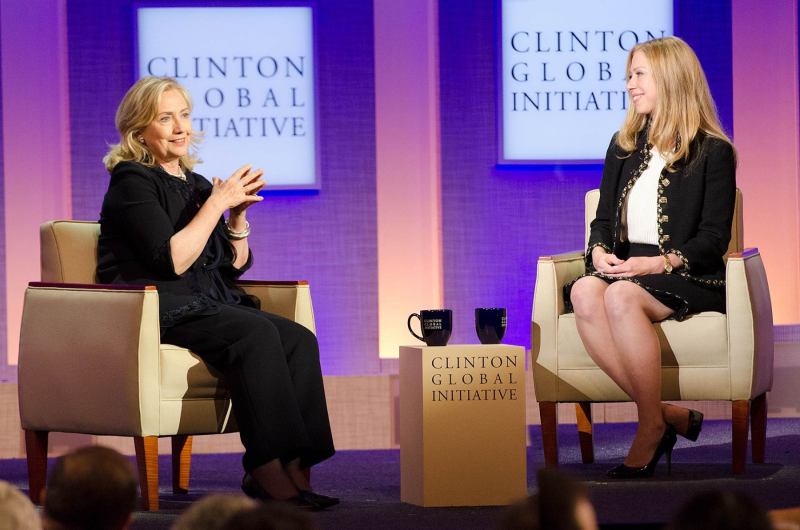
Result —
<instances>
[{"instance_id":1,"label":"cream seat cushion beneath the legs of the woman in trousers","mask_svg":"<svg viewBox=\"0 0 800 530\"><path fill-rule=\"evenodd\" d=\"M229 397L221 374L186 348L161 344L160 363L162 400Z\"/></svg>"}]
</instances>

